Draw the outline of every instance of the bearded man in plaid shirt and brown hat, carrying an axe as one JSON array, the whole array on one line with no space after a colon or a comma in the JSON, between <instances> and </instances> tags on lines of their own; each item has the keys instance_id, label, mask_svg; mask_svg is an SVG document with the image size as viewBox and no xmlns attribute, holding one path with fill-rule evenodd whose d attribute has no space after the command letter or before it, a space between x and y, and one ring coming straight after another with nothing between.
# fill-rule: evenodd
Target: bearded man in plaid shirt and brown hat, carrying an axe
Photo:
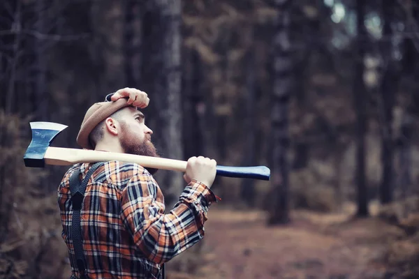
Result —
<instances>
[{"instance_id":1,"label":"bearded man in plaid shirt and brown hat, carrying an axe","mask_svg":"<svg viewBox=\"0 0 419 279\"><path fill-rule=\"evenodd\" d=\"M153 132L138 110L148 103L147 93L138 89L106 96L105 102L87 110L78 144L83 149L158 156ZM151 173L155 171L115 160L68 169L58 202L71 278L163 278L163 264L203 238L207 211L216 202L210 190L216 161L189 158L186 187L168 213ZM76 188L74 181L83 181L85 189L79 190L80 183Z\"/></svg>"}]
</instances>

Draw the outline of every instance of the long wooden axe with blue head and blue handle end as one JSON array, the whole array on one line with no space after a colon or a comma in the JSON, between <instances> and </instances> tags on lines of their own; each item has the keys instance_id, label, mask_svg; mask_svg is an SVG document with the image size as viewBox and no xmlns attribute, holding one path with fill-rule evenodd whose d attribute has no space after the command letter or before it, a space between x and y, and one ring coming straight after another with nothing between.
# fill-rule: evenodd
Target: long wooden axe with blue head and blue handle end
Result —
<instances>
[{"instance_id":1,"label":"long wooden axe with blue head and blue handle end","mask_svg":"<svg viewBox=\"0 0 419 279\"><path fill-rule=\"evenodd\" d=\"M186 161L168 158L140 156L126 153L106 152L86 149L69 149L50 146L56 137L67 126L52 122L31 122L32 140L24 153L24 165L27 167L45 167L47 165L73 165L76 163L96 163L119 160L127 163L138 163L142 167L186 171ZM265 166L228 167L217 165L216 175L249 179L270 179L270 169Z\"/></svg>"}]
</instances>

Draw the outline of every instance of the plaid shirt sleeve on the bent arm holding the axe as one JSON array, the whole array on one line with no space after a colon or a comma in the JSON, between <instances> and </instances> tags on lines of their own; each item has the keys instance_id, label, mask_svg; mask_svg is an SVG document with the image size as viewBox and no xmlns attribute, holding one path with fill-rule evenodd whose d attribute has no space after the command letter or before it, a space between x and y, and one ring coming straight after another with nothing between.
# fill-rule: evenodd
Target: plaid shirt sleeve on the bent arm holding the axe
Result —
<instances>
[{"instance_id":1,"label":"plaid shirt sleeve on the bent arm holding the axe","mask_svg":"<svg viewBox=\"0 0 419 279\"><path fill-rule=\"evenodd\" d=\"M163 264L203 238L207 210L214 201L210 188L193 180L165 214L163 194L145 171L133 176L122 191L122 219L145 257Z\"/></svg>"}]
</instances>

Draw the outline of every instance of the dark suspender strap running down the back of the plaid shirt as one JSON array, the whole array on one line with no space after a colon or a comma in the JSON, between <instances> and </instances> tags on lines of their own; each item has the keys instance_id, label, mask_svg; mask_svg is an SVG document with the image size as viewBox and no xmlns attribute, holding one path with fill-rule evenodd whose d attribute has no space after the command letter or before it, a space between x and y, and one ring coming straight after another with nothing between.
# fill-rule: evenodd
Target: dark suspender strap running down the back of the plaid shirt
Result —
<instances>
[{"instance_id":1,"label":"dark suspender strap running down the back of the plaid shirt","mask_svg":"<svg viewBox=\"0 0 419 279\"><path fill-rule=\"evenodd\" d=\"M70 177L70 193L71 205L73 206L73 218L71 220L71 238L73 239L75 261L80 273L80 279L87 279L86 262L84 259L83 243L82 243L82 227L80 224L80 211L82 210L82 202L84 199L84 191L86 190L87 182L89 182L91 174L93 174L98 167L104 162L98 162L92 165L89 171L80 184L79 174L80 168L76 169Z\"/></svg>"}]
</instances>

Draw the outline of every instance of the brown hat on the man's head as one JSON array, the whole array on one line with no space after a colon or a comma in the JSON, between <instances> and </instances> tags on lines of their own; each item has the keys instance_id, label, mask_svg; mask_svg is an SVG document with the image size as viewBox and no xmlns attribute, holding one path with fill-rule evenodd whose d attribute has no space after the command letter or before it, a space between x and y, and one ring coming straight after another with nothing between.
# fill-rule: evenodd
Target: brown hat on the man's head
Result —
<instances>
[{"instance_id":1,"label":"brown hat on the man's head","mask_svg":"<svg viewBox=\"0 0 419 279\"><path fill-rule=\"evenodd\" d=\"M89 142L91 130L114 112L117 112L123 107L128 107L129 105L126 102L126 98L121 98L115 102L94 103L94 105L89 107L89 110L84 115L80 131L77 135L77 143L84 149L94 149Z\"/></svg>"}]
</instances>

